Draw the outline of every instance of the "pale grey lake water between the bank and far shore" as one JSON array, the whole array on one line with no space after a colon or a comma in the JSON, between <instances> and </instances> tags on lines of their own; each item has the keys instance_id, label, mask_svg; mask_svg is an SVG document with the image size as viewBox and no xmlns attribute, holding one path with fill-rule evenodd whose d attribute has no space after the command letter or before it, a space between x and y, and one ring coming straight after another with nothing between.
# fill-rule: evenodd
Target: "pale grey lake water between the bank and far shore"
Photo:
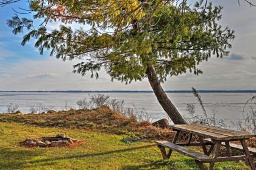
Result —
<instances>
[{"instance_id":1,"label":"pale grey lake water between the bank and far shore","mask_svg":"<svg viewBox=\"0 0 256 170\"><path fill-rule=\"evenodd\" d=\"M158 103L155 95L150 92L111 92L103 93L118 100L124 100L125 106L135 107L138 111L144 109L152 118L158 120L166 118L166 113ZM216 114L228 122L243 120L243 108L246 101L251 97L250 93L201 93L202 100L208 115ZM202 114L202 109L191 93L168 93L179 112L188 117L187 104L194 104L196 114ZM7 105L18 104L19 110L29 112L30 107L39 104L46 107L54 107L57 110L66 109L66 106L78 108L76 102L83 98L89 98L88 93L76 92L0 92L0 113L7 112ZM248 106L253 106L252 103ZM249 112L249 107L245 112Z\"/></svg>"}]
</instances>

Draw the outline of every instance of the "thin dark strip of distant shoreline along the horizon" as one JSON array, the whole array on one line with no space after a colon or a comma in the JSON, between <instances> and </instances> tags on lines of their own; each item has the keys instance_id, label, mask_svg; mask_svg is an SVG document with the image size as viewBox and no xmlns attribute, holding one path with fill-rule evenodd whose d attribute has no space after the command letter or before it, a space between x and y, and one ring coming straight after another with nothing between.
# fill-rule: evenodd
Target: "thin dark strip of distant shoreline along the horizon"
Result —
<instances>
[{"instance_id":1,"label":"thin dark strip of distant shoreline along the horizon","mask_svg":"<svg viewBox=\"0 0 256 170\"><path fill-rule=\"evenodd\" d=\"M10 93L153 93L152 90L9 90ZM192 90L166 90L168 94L191 93ZM256 93L256 90L197 90L199 93Z\"/></svg>"}]
</instances>

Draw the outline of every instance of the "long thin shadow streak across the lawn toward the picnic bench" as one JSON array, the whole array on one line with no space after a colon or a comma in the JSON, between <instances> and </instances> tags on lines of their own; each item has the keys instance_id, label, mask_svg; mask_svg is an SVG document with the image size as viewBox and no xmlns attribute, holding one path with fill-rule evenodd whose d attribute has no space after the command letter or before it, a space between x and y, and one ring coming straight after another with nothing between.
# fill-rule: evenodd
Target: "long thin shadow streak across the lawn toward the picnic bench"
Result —
<instances>
[{"instance_id":1,"label":"long thin shadow streak across the lawn toward the picnic bench","mask_svg":"<svg viewBox=\"0 0 256 170\"><path fill-rule=\"evenodd\" d=\"M65 159L73 159L73 158L96 157L96 156L101 156L101 155L129 152L129 151L133 151L133 150L137 150L137 149L143 149L143 148L151 148L153 146L155 146L155 144L148 145L148 146L139 146L139 147L135 147L135 148L127 148L127 149L119 149L119 150L114 150L114 151L99 152L99 153L95 153L95 154L80 154L80 155L70 155L70 156L57 157L57 158L44 158L44 159L40 159L40 160L29 161L29 163L41 163L41 162L45 162L45 161L65 160Z\"/></svg>"}]
</instances>

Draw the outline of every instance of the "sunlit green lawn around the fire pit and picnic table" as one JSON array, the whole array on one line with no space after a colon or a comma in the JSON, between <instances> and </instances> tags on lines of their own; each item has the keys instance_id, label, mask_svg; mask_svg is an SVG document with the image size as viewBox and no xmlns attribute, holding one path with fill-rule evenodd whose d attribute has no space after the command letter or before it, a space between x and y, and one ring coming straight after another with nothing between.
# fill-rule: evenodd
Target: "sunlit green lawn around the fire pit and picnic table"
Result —
<instances>
[{"instance_id":1,"label":"sunlit green lawn around the fire pit and picnic table","mask_svg":"<svg viewBox=\"0 0 256 170\"><path fill-rule=\"evenodd\" d=\"M84 140L72 148L24 148L26 137L64 133ZM0 123L0 169L198 169L194 160L173 152L162 160L154 143L123 143L123 135L38 127L21 123ZM215 169L249 169L243 161L216 163Z\"/></svg>"}]
</instances>

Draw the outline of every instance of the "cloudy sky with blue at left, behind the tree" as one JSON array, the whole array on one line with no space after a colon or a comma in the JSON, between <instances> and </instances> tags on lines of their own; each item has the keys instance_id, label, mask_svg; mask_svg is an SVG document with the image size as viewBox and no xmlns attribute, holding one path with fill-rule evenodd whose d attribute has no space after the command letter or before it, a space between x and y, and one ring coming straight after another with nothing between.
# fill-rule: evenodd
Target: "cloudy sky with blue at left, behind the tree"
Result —
<instances>
[{"instance_id":1,"label":"cloudy sky with blue at left, behind the tree","mask_svg":"<svg viewBox=\"0 0 256 170\"><path fill-rule=\"evenodd\" d=\"M214 4L224 7L221 24L235 30L230 55L201 63L202 75L169 77L163 83L165 90L256 89L256 7L234 0L215 0ZM98 80L82 77L72 72L79 61L63 62L48 53L40 55L34 41L21 46L23 35L13 35L6 24L15 13L12 8L18 7L26 7L25 1L0 7L0 90L151 90L146 79L126 85L112 82L103 70ZM48 29L57 28L59 23L48 25Z\"/></svg>"}]
</instances>

